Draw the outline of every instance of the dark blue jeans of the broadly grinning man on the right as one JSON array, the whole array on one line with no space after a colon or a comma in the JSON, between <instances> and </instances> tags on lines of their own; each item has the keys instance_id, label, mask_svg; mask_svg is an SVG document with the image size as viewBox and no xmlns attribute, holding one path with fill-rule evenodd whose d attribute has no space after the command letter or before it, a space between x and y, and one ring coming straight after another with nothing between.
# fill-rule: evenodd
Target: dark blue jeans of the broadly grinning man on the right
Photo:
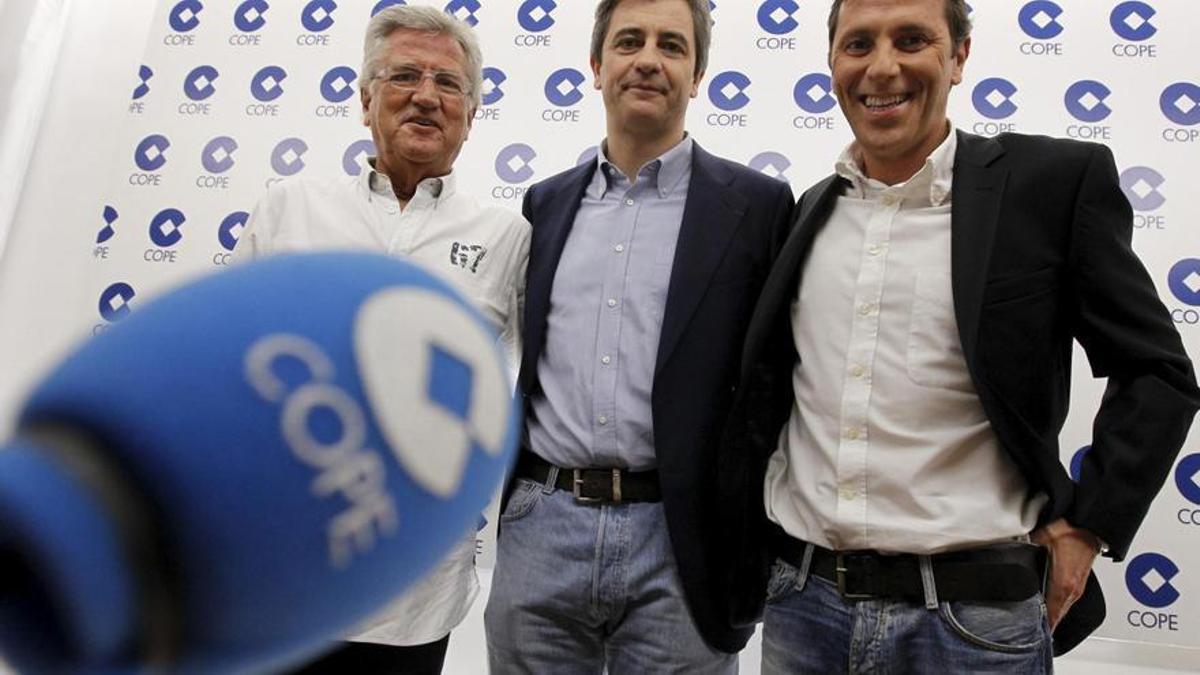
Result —
<instances>
[{"instance_id":1,"label":"dark blue jeans of the broadly grinning man on the right","mask_svg":"<svg viewBox=\"0 0 1200 675\"><path fill-rule=\"evenodd\" d=\"M832 581L775 561L762 671L1051 673L1042 596L1020 602L846 601ZM936 591L936 590L935 590Z\"/></svg>"}]
</instances>

